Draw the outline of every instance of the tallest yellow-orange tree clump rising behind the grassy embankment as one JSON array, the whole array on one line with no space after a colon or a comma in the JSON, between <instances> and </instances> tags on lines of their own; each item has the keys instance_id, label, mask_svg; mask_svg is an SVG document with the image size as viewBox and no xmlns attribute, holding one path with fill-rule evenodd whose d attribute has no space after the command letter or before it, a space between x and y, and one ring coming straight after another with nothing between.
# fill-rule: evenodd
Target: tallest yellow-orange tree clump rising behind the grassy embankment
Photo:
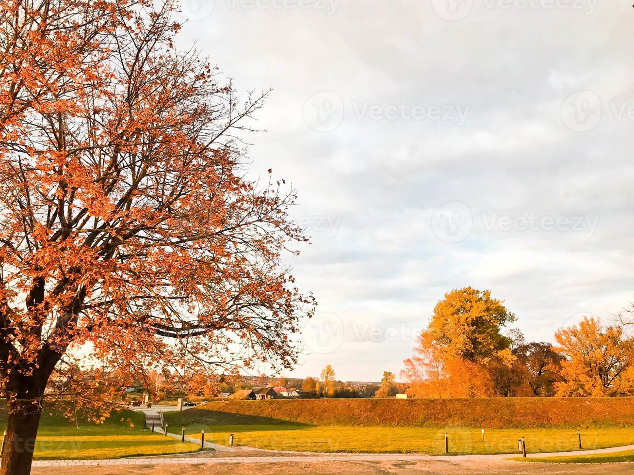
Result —
<instances>
[{"instance_id":1,"label":"tallest yellow-orange tree clump rising behind the grassy embankment","mask_svg":"<svg viewBox=\"0 0 634 475\"><path fill-rule=\"evenodd\" d=\"M414 355L404 361L403 377L413 397L524 395L526 378L502 334L515 320L491 292L470 287L445 294L434 307Z\"/></svg>"}]
</instances>

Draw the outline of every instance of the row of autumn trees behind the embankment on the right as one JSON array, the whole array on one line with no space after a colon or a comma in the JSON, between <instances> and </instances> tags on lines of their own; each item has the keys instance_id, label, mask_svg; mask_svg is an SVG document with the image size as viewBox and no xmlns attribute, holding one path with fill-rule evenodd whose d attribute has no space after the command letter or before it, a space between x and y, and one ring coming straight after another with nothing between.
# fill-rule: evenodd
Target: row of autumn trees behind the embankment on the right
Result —
<instances>
[{"instance_id":1,"label":"row of autumn trees behind the embankment on the right","mask_svg":"<svg viewBox=\"0 0 634 475\"><path fill-rule=\"evenodd\" d=\"M554 335L524 341L515 315L488 290L445 294L401 374L413 397L634 395L634 338L621 315L612 325L584 317Z\"/></svg>"}]
</instances>

